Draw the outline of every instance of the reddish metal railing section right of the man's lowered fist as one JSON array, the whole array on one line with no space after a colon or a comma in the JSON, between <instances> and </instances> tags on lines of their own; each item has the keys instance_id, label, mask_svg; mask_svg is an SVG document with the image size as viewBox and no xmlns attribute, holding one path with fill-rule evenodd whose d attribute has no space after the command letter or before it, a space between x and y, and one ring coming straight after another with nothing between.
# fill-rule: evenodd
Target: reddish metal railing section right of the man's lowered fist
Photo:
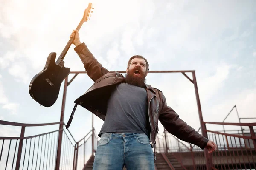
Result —
<instances>
[{"instance_id":1,"label":"reddish metal railing section right of the man's lowered fist","mask_svg":"<svg viewBox=\"0 0 256 170\"><path fill-rule=\"evenodd\" d=\"M256 123L218 123L204 122L212 125L229 125L249 127L249 132L229 134L207 130L209 139L217 144L217 151L212 154L216 169L256 169L256 137L253 126Z\"/></svg>"}]
</instances>

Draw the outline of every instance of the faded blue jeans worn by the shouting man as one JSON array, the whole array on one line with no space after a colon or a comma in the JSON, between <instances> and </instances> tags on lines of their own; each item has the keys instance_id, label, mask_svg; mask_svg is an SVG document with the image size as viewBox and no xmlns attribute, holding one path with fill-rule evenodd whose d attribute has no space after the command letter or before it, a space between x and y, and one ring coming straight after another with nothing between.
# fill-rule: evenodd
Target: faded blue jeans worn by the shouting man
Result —
<instances>
[{"instance_id":1,"label":"faded blue jeans worn by the shouting man","mask_svg":"<svg viewBox=\"0 0 256 170\"><path fill-rule=\"evenodd\" d=\"M141 133L104 133L99 140L93 170L154 170L149 138Z\"/></svg>"}]
</instances>

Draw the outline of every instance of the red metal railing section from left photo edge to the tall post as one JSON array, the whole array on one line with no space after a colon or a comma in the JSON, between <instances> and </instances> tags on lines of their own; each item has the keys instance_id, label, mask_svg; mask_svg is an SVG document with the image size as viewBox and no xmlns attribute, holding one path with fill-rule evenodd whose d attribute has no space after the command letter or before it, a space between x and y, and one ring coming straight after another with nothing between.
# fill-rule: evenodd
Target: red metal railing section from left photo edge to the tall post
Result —
<instances>
[{"instance_id":1,"label":"red metal railing section from left photo edge to the tall post","mask_svg":"<svg viewBox=\"0 0 256 170\"><path fill-rule=\"evenodd\" d=\"M57 125L63 122L46 124L22 124L0 120L0 125L20 126L19 137L0 137L0 169L54 168L58 132L54 130L34 136L25 136L26 127Z\"/></svg>"}]
</instances>

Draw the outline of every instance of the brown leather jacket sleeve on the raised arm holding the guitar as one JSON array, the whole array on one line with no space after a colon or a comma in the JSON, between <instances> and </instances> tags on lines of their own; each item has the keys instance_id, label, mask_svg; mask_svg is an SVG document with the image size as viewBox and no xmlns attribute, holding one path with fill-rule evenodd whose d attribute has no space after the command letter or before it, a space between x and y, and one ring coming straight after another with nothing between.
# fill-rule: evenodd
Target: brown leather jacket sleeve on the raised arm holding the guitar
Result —
<instances>
[{"instance_id":1,"label":"brown leather jacket sleeve on the raised arm holding the guitar","mask_svg":"<svg viewBox=\"0 0 256 170\"><path fill-rule=\"evenodd\" d=\"M102 77L104 74L108 73L108 70L102 67L97 59L93 57L93 54L90 52L84 42L76 46L74 50L83 62L85 71L87 72L88 76L94 82Z\"/></svg>"}]
</instances>

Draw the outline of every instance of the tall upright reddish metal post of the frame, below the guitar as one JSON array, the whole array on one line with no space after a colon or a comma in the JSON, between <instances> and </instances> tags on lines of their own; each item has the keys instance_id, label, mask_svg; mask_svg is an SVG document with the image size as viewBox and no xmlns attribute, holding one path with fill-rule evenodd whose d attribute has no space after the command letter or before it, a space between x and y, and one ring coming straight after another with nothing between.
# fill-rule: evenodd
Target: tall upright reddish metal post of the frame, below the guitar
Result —
<instances>
[{"instance_id":1,"label":"tall upright reddish metal post of the frame, below the guitar","mask_svg":"<svg viewBox=\"0 0 256 170\"><path fill-rule=\"evenodd\" d=\"M60 122L64 121L64 111L65 111L65 103L66 103L66 96L67 96L67 78L64 81L64 90L63 90L63 97L62 97L62 105L61 105L61 119ZM58 135L58 148L57 148L57 156L56 156L56 167L55 170L60 169L60 160L61 160L61 144L62 144L62 134L63 134L63 123L60 123L59 127L59 135Z\"/></svg>"}]
</instances>

